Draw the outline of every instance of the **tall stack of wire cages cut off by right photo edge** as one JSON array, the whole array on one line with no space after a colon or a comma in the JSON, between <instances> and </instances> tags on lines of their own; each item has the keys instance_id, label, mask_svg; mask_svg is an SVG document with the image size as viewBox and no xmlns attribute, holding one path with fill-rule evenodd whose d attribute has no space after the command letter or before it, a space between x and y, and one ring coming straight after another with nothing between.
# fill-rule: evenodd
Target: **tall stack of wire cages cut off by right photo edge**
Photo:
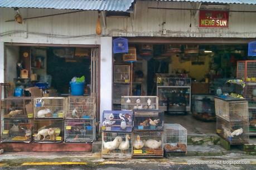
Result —
<instances>
[{"instance_id":1,"label":"tall stack of wire cages cut off by right photo edge","mask_svg":"<svg viewBox=\"0 0 256 170\"><path fill-rule=\"evenodd\" d=\"M244 79L244 97L249 106L250 136L256 136L256 61L238 61L236 77Z\"/></svg>"}]
</instances>

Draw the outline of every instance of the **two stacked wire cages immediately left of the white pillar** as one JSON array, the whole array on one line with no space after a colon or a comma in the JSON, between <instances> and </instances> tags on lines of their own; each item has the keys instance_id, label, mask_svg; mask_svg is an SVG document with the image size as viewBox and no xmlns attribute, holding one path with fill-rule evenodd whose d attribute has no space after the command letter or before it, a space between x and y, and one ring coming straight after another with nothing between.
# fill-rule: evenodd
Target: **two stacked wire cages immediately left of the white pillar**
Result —
<instances>
[{"instance_id":1,"label":"two stacked wire cages immediately left of the white pillar","mask_svg":"<svg viewBox=\"0 0 256 170\"><path fill-rule=\"evenodd\" d=\"M64 120L64 142L90 143L95 139L95 98L69 96Z\"/></svg>"}]
</instances>

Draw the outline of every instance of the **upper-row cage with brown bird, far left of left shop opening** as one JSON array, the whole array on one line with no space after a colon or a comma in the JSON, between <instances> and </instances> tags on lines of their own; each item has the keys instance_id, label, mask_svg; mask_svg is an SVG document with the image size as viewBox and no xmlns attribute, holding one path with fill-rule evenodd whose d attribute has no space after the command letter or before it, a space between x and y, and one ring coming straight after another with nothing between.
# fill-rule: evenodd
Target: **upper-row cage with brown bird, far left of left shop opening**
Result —
<instances>
[{"instance_id":1,"label":"upper-row cage with brown bird, far left of left shop opening","mask_svg":"<svg viewBox=\"0 0 256 170\"><path fill-rule=\"evenodd\" d=\"M1 105L1 114L7 119L33 118L32 97L9 97L4 98Z\"/></svg>"}]
</instances>

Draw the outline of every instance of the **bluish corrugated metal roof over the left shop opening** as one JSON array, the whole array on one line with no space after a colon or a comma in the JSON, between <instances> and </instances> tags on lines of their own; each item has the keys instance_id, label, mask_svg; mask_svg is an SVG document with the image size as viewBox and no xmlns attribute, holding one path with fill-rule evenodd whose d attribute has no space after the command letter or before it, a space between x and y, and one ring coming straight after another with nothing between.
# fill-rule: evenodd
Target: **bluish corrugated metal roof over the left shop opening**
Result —
<instances>
[{"instance_id":1,"label":"bluish corrugated metal roof over the left shop opening","mask_svg":"<svg viewBox=\"0 0 256 170\"><path fill-rule=\"evenodd\" d=\"M4 8L53 8L99 11L127 11L134 0L1 0Z\"/></svg>"}]
</instances>

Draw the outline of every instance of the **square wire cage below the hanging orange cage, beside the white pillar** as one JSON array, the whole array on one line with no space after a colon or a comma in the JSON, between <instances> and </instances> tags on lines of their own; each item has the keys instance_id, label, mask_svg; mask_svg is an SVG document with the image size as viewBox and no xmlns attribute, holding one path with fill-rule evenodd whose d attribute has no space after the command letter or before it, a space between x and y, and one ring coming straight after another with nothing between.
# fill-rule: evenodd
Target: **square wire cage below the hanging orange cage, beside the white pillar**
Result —
<instances>
[{"instance_id":1,"label":"square wire cage below the hanging orange cage, beside the white pillar","mask_svg":"<svg viewBox=\"0 0 256 170\"><path fill-rule=\"evenodd\" d=\"M130 83L130 65L114 65L114 83Z\"/></svg>"}]
</instances>

